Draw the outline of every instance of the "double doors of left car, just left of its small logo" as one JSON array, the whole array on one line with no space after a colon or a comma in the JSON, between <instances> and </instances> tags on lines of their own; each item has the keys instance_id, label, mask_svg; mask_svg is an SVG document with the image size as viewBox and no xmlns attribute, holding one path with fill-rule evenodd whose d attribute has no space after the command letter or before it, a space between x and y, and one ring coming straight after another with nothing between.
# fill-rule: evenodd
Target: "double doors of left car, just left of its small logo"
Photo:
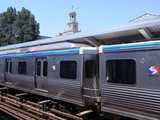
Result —
<instances>
[{"instance_id":1,"label":"double doors of left car, just left of its small logo","mask_svg":"<svg viewBox=\"0 0 160 120\"><path fill-rule=\"evenodd\" d=\"M48 62L46 58L36 59L36 87L40 90L47 90Z\"/></svg>"}]
</instances>

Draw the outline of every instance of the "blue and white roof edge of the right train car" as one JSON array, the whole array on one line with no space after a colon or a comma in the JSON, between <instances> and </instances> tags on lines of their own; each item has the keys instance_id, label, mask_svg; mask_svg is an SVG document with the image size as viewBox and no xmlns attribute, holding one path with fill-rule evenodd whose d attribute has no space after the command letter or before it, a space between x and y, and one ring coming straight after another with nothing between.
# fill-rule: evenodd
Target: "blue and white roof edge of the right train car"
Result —
<instances>
[{"instance_id":1,"label":"blue and white roof edge of the right train car","mask_svg":"<svg viewBox=\"0 0 160 120\"><path fill-rule=\"evenodd\" d=\"M160 49L160 40L117 44L117 45L102 45L99 47L99 52L118 52L118 51L133 51L133 50L147 50L147 49Z\"/></svg>"}]
</instances>

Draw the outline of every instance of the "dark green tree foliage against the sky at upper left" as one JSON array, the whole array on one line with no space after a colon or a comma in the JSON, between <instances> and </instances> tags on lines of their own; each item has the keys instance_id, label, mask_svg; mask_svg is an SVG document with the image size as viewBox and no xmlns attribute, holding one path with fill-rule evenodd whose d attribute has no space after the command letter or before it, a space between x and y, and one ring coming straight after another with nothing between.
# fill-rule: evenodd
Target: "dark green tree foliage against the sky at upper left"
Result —
<instances>
[{"instance_id":1,"label":"dark green tree foliage against the sky at upper left","mask_svg":"<svg viewBox=\"0 0 160 120\"><path fill-rule=\"evenodd\" d=\"M0 13L0 45L31 41L38 36L39 23L29 10L9 7Z\"/></svg>"}]
</instances>

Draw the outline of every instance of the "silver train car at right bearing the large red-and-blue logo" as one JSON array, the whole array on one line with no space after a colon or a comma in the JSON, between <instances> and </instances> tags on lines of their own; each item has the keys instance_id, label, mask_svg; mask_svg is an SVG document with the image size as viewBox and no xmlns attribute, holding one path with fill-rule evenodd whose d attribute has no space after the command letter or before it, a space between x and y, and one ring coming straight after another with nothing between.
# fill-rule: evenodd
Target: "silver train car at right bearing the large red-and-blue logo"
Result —
<instances>
[{"instance_id":1,"label":"silver train car at right bearing the large red-and-blue logo","mask_svg":"<svg viewBox=\"0 0 160 120\"><path fill-rule=\"evenodd\" d=\"M160 119L160 41L99 49L101 110L140 120Z\"/></svg>"}]
</instances>

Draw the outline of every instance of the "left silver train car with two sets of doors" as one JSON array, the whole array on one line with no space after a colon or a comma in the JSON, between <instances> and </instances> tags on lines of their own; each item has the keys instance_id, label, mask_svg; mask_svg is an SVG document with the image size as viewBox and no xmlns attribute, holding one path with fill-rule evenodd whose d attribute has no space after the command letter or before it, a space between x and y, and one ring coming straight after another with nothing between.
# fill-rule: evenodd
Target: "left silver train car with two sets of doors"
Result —
<instances>
[{"instance_id":1,"label":"left silver train car with two sets of doors","mask_svg":"<svg viewBox=\"0 0 160 120\"><path fill-rule=\"evenodd\" d=\"M98 99L96 54L97 48L73 43L2 51L0 82L84 106Z\"/></svg>"}]
</instances>

